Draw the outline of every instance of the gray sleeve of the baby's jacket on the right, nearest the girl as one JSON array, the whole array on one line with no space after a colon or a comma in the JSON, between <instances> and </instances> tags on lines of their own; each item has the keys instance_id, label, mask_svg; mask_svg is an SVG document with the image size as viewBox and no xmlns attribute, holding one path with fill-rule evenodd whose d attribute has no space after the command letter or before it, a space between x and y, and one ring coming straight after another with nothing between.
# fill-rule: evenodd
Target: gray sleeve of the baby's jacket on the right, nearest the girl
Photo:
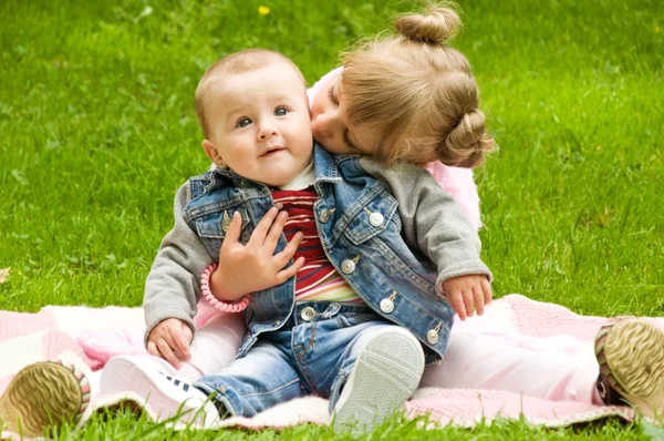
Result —
<instances>
[{"instance_id":1,"label":"gray sleeve of the baby's jacket on the right, nearest the girl","mask_svg":"<svg viewBox=\"0 0 664 441\"><path fill-rule=\"evenodd\" d=\"M424 168L404 164L385 167L363 156L360 165L388 186L398 203L402 235L406 244L422 250L438 268L436 286L469 274L492 275L479 258L477 230L461 206Z\"/></svg>"}]
</instances>

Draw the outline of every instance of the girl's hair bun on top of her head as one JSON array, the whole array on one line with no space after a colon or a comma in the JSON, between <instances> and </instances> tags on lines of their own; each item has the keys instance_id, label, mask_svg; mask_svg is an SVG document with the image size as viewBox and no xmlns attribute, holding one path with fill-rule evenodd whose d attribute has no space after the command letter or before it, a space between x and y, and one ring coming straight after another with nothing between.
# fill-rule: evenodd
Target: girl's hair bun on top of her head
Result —
<instances>
[{"instance_id":1,"label":"girl's hair bun on top of her head","mask_svg":"<svg viewBox=\"0 0 664 441\"><path fill-rule=\"evenodd\" d=\"M408 40L444 43L463 27L459 14L448 4L430 4L426 13L408 13L394 22L394 29Z\"/></svg>"}]
</instances>

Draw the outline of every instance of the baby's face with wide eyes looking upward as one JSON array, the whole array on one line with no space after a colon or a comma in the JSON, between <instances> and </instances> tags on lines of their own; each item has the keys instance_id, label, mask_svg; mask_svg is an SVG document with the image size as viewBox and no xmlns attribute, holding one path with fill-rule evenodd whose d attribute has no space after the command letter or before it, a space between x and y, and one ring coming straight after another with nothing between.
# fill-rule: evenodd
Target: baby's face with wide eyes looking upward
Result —
<instances>
[{"instance_id":1,"label":"baby's face with wide eyes looking upward","mask_svg":"<svg viewBox=\"0 0 664 441\"><path fill-rule=\"evenodd\" d=\"M305 88L287 63L225 75L206 102L215 164L271 186L288 184L311 162L313 137Z\"/></svg>"}]
</instances>

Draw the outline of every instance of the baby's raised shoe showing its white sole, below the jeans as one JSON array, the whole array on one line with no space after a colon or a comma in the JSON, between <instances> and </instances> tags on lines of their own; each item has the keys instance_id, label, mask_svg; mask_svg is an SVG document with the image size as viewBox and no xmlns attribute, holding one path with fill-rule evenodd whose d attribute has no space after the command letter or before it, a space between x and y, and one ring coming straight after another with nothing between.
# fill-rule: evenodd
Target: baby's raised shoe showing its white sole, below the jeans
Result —
<instances>
[{"instance_id":1,"label":"baby's raised shoe showing its white sole, below the jeans","mask_svg":"<svg viewBox=\"0 0 664 441\"><path fill-rule=\"evenodd\" d=\"M359 437L401 409L413 394L424 371L424 351L406 329L378 331L362 349L334 406L335 431Z\"/></svg>"}]
</instances>

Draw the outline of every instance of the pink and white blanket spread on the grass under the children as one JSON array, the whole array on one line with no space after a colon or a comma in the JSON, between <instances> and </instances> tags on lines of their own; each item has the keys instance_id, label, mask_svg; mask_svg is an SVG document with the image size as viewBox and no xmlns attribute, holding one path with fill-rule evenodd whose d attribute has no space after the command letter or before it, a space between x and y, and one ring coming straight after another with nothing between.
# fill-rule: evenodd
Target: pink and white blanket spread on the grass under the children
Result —
<instances>
[{"instance_id":1,"label":"pink and white blanket spread on the grass under the children","mask_svg":"<svg viewBox=\"0 0 664 441\"><path fill-rule=\"evenodd\" d=\"M571 335L592 341L604 321L584 317L558 305L538 302L520 295L494 301L492 314L483 318L481 327L496 331L520 331L537 337ZM664 328L664 319L653 320ZM45 307L37 314L0 311L0 391L22 366L53 359L63 350L81 356L98 370L114 355L144 353L143 314L139 308ZM94 379L93 379L94 381ZM118 401L118 397L94 397L91 408ZM149 409L146 409L149 414ZM562 427L575 422L618 417L634 418L627 407L596 407L578 402L548 401L496 390L437 389L416 391L405 404L407 416L429 414L429 421L443 425L473 427L494 418L525 418L532 424ZM297 399L270 409L252 419L232 418L225 425L260 429L282 428L301 422L328 424L326 400L315 397ZM3 433L4 435L4 433ZM3 437L4 438L4 437Z\"/></svg>"}]
</instances>

